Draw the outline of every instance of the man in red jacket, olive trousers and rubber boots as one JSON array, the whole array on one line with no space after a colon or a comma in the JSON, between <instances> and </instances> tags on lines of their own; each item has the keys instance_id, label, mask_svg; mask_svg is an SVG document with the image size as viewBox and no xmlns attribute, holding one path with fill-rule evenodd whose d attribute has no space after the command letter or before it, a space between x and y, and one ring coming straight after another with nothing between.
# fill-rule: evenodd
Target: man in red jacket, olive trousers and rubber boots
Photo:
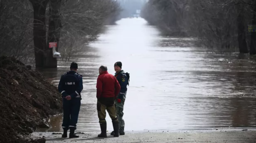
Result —
<instances>
[{"instance_id":1,"label":"man in red jacket, olive trousers and rubber boots","mask_svg":"<svg viewBox=\"0 0 256 143\"><path fill-rule=\"evenodd\" d=\"M115 98L120 92L120 85L115 76L107 72L106 66L99 68L97 79L97 111L101 133L98 137L107 137L106 110L112 119L114 137L119 137L119 121L116 117Z\"/></svg>"}]
</instances>

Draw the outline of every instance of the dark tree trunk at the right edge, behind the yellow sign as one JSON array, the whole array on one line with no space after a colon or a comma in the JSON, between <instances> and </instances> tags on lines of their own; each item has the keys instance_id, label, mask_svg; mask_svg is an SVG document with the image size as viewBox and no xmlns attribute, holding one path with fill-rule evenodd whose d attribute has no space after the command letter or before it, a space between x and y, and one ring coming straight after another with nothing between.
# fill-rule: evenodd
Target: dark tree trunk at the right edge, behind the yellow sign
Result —
<instances>
[{"instance_id":1,"label":"dark tree trunk at the right edge, behind the yellow sign","mask_svg":"<svg viewBox=\"0 0 256 143\"><path fill-rule=\"evenodd\" d=\"M256 0L254 0L254 10L253 10L253 19L252 19L252 25L256 25ZM251 45L250 45L250 55L256 54L256 32L251 33Z\"/></svg>"}]
</instances>

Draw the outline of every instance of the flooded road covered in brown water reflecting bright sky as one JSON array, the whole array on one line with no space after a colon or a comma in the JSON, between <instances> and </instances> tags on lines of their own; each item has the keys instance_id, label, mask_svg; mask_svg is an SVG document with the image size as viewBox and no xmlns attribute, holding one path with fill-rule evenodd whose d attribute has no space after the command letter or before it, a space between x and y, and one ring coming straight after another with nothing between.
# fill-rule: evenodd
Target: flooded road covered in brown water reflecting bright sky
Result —
<instances>
[{"instance_id":1,"label":"flooded road covered in brown water reflecting bright sky","mask_svg":"<svg viewBox=\"0 0 256 143\"><path fill-rule=\"evenodd\" d=\"M250 128L256 126L255 58L215 54L193 46L191 38L161 36L141 18L127 18L70 62L44 72L58 85L70 63L78 63L84 90L77 131L99 131L96 110L98 68L121 61L130 73L124 105L125 130ZM112 123L107 115L107 130ZM62 131L62 116L49 131Z\"/></svg>"}]
</instances>

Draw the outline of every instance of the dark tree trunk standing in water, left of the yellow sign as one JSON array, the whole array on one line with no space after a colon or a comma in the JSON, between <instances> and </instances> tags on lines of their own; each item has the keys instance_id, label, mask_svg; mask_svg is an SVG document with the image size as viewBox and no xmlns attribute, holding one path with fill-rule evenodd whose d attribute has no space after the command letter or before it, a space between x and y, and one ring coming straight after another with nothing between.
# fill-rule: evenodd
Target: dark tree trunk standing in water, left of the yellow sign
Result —
<instances>
[{"instance_id":1,"label":"dark tree trunk standing in water, left of the yellow sign","mask_svg":"<svg viewBox=\"0 0 256 143\"><path fill-rule=\"evenodd\" d=\"M240 53L248 53L247 43L246 43L246 36L245 36L245 25L244 25L244 15L243 15L243 8L241 6L237 6L238 16L237 16L237 34L238 34L238 46Z\"/></svg>"}]
</instances>

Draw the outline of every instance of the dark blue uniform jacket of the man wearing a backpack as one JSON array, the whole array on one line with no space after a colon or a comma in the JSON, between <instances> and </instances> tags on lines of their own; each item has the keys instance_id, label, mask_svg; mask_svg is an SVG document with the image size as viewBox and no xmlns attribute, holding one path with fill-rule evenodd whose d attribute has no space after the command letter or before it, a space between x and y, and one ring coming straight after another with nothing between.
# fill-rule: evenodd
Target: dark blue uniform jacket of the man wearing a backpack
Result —
<instances>
[{"instance_id":1,"label":"dark blue uniform jacket of the man wearing a backpack","mask_svg":"<svg viewBox=\"0 0 256 143\"><path fill-rule=\"evenodd\" d=\"M121 90L119 92L118 98L123 99L124 94L127 91L127 84L128 84L128 80L127 80L126 74L124 73L124 70L121 70L119 73L115 73L115 77L121 86Z\"/></svg>"}]
</instances>

